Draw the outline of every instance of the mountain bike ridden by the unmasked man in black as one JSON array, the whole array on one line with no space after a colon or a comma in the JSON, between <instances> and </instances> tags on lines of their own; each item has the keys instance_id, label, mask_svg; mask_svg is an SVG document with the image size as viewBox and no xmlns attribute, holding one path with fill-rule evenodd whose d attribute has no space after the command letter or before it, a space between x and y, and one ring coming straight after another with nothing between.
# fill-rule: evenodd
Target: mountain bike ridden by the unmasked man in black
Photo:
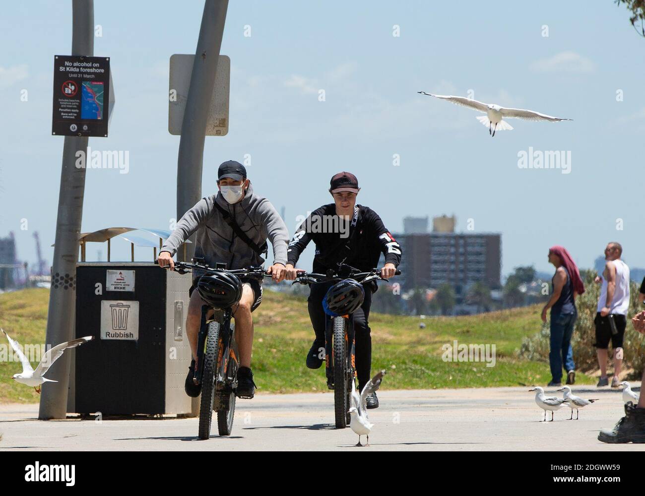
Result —
<instances>
[{"instance_id":1,"label":"mountain bike ridden by the unmasked man in black","mask_svg":"<svg viewBox=\"0 0 645 496\"><path fill-rule=\"evenodd\" d=\"M401 271L397 270L395 275ZM361 272L347 264L339 264L336 270L328 270L326 274L299 273L292 284L314 284L328 281L353 279L357 283L366 284L381 277L381 271L374 268L370 272ZM332 286L330 286L332 287ZM325 329L325 375L327 387L333 390L333 404L336 428L344 429L350 423L350 395L352 381L356 376L356 356L354 323L352 315L341 315L326 319Z\"/></svg>"}]
</instances>

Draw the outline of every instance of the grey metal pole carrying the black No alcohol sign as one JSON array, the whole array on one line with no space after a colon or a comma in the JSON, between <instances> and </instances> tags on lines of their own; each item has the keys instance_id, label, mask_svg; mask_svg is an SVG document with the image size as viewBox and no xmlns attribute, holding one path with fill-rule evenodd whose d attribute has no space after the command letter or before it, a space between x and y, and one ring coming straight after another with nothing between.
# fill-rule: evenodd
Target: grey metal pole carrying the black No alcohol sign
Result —
<instances>
[{"instance_id":1,"label":"grey metal pole carrying the black No alcohol sign","mask_svg":"<svg viewBox=\"0 0 645 496\"><path fill-rule=\"evenodd\" d=\"M72 55L94 55L94 0L72 0ZM58 217L52 289L47 312L46 347L74 338L76 304L76 262L83 217L85 169L76 168L76 152L87 152L87 137L66 136L63 144L61 188L58 193ZM70 379L70 353L64 353L50 369L42 388L38 418L64 419Z\"/></svg>"}]
</instances>

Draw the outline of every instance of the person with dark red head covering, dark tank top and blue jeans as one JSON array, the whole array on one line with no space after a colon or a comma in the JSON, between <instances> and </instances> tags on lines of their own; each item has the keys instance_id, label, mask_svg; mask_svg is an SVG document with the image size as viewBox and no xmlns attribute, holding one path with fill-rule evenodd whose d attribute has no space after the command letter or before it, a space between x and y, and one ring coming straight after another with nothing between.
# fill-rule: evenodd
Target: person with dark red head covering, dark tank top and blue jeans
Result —
<instances>
[{"instance_id":1,"label":"person with dark red head covering, dark tank top and blue jeans","mask_svg":"<svg viewBox=\"0 0 645 496\"><path fill-rule=\"evenodd\" d=\"M551 246L549 262L555 266L551 279L551 298L542 308L542 322L546 322L546 311L551 309L551 382L549 386L562 386L562 366L567 372L567 384L575 383L575 364L571 336L578 317L575 297L584 293L580 272L564 246Z\"/></svg>"}]
</instances>

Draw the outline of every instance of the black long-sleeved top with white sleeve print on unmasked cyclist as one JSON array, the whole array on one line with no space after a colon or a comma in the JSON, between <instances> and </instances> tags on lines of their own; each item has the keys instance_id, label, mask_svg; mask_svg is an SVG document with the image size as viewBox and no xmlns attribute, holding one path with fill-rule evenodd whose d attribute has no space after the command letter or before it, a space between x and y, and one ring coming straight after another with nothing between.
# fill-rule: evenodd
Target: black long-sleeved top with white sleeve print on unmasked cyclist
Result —
<instances>
[{"instance_id":1,"label":"black long-sleeved top with white sleeve print on unmasked cyclist","mask_svg":"<svg viewBox=\"0 0 645 496\"><path fill-rule=\"evenodd\" d=\"M355 205L354 215L349 226L347 224L339 221L335 204L317 208L293 235L287 249L287 263L295 267L300 254L313 240L316 245L313 257L315 273L325 273L338 263L367 272L376 268L381 253L385 255L385 263L399 265L401 246L371 208Z\"/></svg>"}]
</instances>

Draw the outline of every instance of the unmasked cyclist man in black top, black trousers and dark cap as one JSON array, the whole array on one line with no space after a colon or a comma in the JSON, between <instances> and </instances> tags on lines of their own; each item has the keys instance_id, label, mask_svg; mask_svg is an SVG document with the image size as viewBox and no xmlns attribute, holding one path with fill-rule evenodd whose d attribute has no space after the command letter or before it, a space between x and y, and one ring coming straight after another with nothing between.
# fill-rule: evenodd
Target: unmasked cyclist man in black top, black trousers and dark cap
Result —
<instances>
[{"instance_id":1,"label":"unmasked cyclist man in black top, black trousers and dark cap","mask_svg":"<svg viewBox=\"0 0 645 496\"><path fill-rule=\"evenodd\" d=\"M312 212L299 226L289 243L286 264L286 279L295 279L295 264L307 244L316 245L313 271L326 273L345 263L361 271L370 271L379 263L381 253L385 264L381 277L392 277L401 262L401 246L383 225L381 217L371 208L357 205L356 197L361 188L355 175L341 172L332 177L330 193L334 203L326 204ZM329 229L329 226L337 228ZM315 332L315 341L307 354L308 368L320 368L323 364L325 328L327 318L323 310L323 298L333 283L312 284L308 299L309 317ZM377 290L375 281L364 284L365 299L361 308L353 313L356 342L356 373L359 391L370 381L372 367L372 337L368 318L372 305L372 293ZM367 399L367 408L378 408L379 399L372 393Z\"/></svg>"}]
</instances>

